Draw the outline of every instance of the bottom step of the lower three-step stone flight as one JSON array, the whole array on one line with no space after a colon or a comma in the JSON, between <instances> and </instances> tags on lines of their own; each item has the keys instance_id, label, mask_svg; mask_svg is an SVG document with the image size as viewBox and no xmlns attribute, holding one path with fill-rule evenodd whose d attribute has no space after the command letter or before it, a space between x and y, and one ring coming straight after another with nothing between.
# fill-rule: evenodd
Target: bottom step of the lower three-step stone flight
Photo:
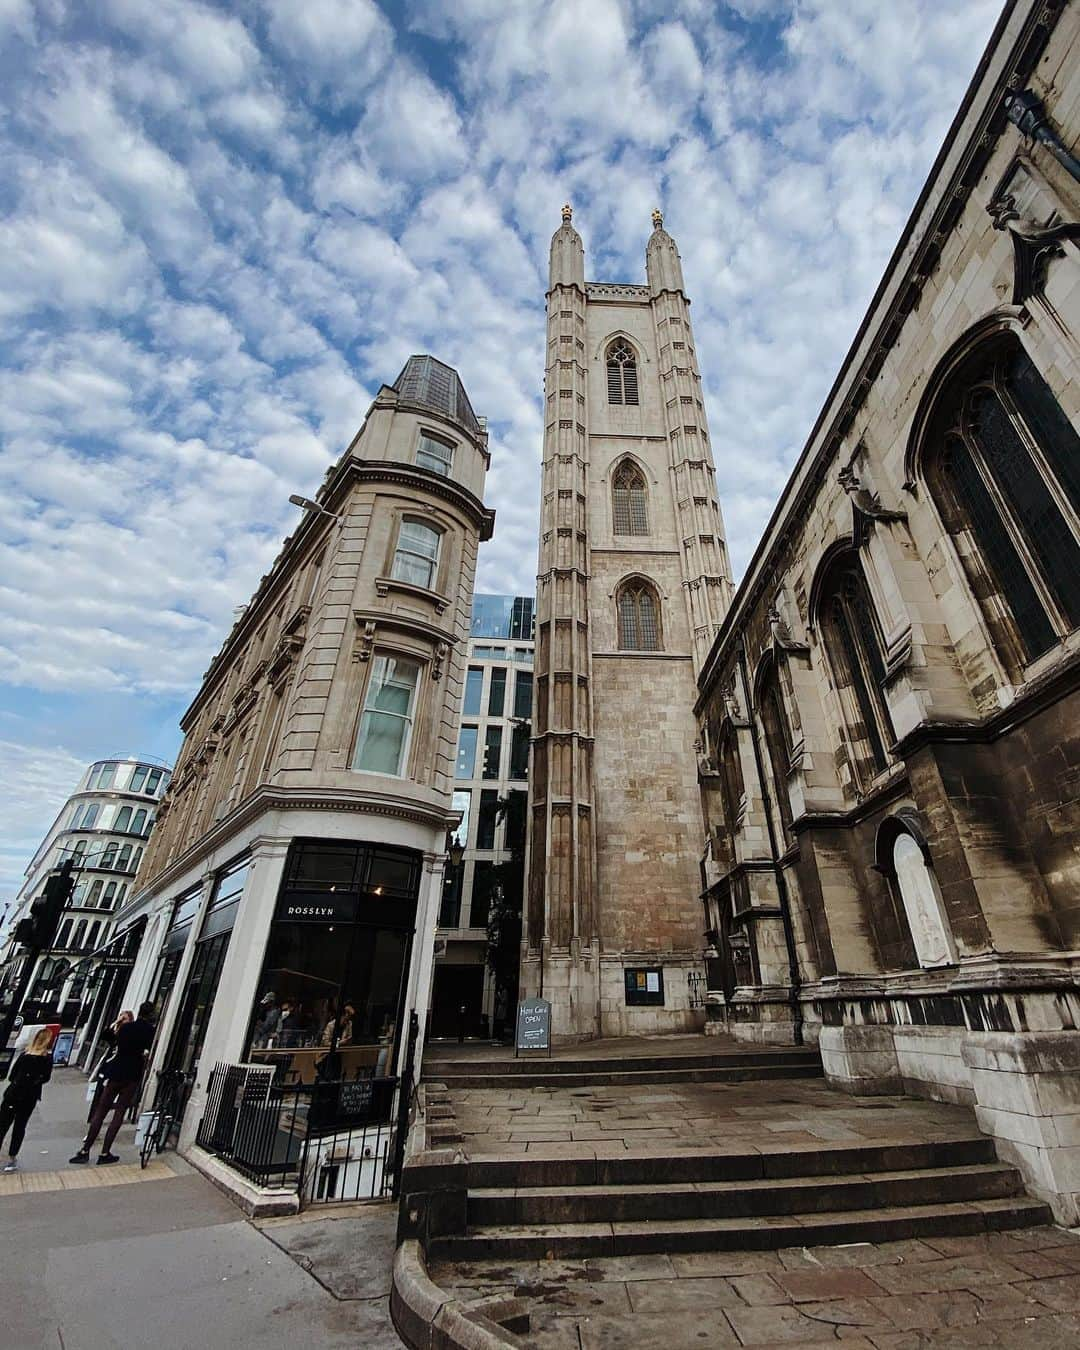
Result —
<instances>
[{"instance_id":1,"label":"bottom step of the lower three-step stone flight","mask_svg":"<svg viewBox=\"0 0 1080 1350\"><path fill-rule=\"evenodd\" d=\"M1049 1222L1045 1204L1026 1197L794 1214L767 1219L680 1219L514 1224L435 1238L437 1261L539 1261L676 1251L763 1251L780 1247L964 1237Z\"/></svg>"}]
</instances>

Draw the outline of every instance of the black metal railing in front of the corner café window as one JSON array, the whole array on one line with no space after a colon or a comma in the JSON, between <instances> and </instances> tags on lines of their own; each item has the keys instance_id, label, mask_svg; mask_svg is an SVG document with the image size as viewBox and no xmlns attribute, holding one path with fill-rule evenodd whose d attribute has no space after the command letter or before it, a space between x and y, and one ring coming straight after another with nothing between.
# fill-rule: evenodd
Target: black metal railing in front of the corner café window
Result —
<instances>
[{"instance_id":1,"label":"black metal railing in front of the corner caf\u00e9 window","mask_svg":"<svg viewBox=\"0 0 1080 1350\"><path fill-rule=\"evenodd\" d=\"M416 1035L413 1025L397 1114L396 1077L282 1084L265 1064L219 1062L196 1142L258 1185L296 1191L302 1204L394 1195Z\"/></svg>"}]
</instances>

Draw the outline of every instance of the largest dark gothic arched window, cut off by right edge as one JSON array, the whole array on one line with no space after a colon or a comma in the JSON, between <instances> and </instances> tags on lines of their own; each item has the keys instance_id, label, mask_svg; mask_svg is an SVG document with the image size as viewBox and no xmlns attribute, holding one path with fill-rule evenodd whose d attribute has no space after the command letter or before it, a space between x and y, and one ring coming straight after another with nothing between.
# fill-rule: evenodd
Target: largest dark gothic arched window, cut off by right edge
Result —
<instances>
[{"instance_id":1,"label":"largest dark gothic arched window, cut off by right edge","mask_svg":"<svg viewBox=\"0 0 1080 1350\"><path fill-rule=\"evenodd\" d=\"M938 396L925 473L1011 668L1080 626L1080 436L1015 338Z\"/></svg>"}]
</instances>

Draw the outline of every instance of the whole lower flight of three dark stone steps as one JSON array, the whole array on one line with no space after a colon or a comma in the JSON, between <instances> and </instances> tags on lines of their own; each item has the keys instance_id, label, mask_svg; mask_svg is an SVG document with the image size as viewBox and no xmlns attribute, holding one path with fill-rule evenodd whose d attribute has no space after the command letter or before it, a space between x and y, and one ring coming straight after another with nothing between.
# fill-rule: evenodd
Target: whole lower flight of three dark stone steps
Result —
<instances>
[{"instance_id":1,"label":"whole lower flight of three dark stone steps","mask_svg":"<svg viewBox=\"0 0 1080 1350\"><path fill-rule=\"evenodd\" d=\"M446 1261L763 1250L969 1235L1045 1223L1015 1168L972 1133L944 1139L609 1156L473 1157Z\"/></svg>"}]
</instances>

